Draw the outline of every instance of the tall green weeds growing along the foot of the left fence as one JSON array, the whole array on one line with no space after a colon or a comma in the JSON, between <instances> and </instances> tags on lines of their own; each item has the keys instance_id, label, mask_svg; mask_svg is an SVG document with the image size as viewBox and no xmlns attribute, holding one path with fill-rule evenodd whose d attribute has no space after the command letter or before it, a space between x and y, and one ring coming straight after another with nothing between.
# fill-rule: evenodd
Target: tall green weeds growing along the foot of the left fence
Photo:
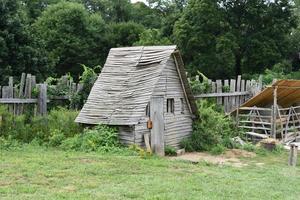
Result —
<instances>
[{"instance_id":1,"label":"tall green weeds growing along the foot of the left fence","mask_svg":"<svg viewBox=\"0 0 300 200\"><path fill-rule=\"evenodd\" d=\"M1 106L0 137L10 137L23 143L34 139L40 144L51 141L50 145L54 145L54 140L58 140L58 133L61 138L67 138L83 131L83 128L74 122L77 114L77 111L58 108L52 110L47 117L28 118L25 115L13 116L7 111L7 107Z\"/></svg>"}]
</instances>

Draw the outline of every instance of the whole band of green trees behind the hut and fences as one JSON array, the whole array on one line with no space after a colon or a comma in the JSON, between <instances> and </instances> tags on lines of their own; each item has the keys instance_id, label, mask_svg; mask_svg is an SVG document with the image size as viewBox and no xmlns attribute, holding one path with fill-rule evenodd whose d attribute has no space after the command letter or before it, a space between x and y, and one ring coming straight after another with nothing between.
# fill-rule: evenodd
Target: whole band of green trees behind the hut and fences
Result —
<instances>
[{"instance_id":1,"label":"whole band of green trees behind the hut and fences","mask_svg":"<svg viewBox=\"0 0 300 200\"><path fill-rule=\"evenodd\" d=\"M0 83L103 66L112 47L177 44L191 74L300 68L299 0L0 0ZM266 71L269 70L269 71Z\"/></svg>"}]
</instances>

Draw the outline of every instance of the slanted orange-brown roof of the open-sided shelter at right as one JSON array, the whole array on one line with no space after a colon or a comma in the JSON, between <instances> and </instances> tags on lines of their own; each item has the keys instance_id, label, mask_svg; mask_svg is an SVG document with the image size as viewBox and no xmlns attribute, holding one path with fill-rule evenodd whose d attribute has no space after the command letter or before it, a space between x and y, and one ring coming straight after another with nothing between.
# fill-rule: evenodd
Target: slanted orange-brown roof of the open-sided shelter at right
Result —
<instances>
[{"instance_id":1,"label":"slanted orange-brown roof of the open-sided shelter at right","mask_svg":"<svg viewBox=\"0 0 300 200\"><path fill-rule=\"evenodd\" d=\"M289 107L300 103L300 81L279 80L272 86L267 87L261 93L254 96L241 107L264 107L273 104L273 88L277 87L277 104L282 107Z\"/></svg>"}]
</instances>

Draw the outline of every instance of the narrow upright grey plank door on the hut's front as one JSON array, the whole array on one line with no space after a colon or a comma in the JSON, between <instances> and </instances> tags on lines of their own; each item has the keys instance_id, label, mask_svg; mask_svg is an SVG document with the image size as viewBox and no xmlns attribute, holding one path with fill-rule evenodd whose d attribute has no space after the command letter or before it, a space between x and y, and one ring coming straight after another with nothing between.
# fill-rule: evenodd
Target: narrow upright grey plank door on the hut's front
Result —
<instances>
[{"instance_id":1,"label":"narrow upright grey plank door on the hut's front","mask_svg":"<svg viewBox=\"0 0 300 200\"><path fill-rule=\"evenodd\" d=\"M151 129L151 148L154 153L160 156L165 155L164 140L164 97L151 97L150 118L152 121Z\"/></svg>"}]
</instances>

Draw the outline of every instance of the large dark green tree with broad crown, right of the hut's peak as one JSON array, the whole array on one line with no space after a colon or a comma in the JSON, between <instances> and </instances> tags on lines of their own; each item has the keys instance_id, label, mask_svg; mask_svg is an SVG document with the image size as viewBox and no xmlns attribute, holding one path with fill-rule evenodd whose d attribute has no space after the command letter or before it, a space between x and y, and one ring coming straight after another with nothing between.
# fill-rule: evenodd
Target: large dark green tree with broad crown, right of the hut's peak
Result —
<instances>
[{"instance_id":1,"label":"large dark green tree with broad crown, right of the hut's peak","mask_svg":"<svg viewBox=\"0 0 300 200\"><path fill-rule=\"evenodd\" d=\"M174 36L193 68L221 78L262 72L286 58L293 27L289 0L191 0Z\"/></svg>"}]
</instances>

